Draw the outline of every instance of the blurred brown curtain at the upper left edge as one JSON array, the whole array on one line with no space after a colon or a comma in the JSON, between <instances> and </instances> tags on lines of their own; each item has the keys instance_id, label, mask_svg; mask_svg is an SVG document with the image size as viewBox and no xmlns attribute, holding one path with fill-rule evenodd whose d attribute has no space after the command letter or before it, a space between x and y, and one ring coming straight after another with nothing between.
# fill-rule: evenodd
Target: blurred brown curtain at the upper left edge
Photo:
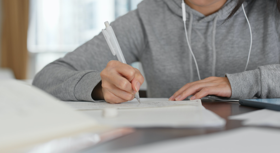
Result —
<instances>
[{"instance_id":1,"label":"blurred brown curtain at the upper left edge","mask_svg":"<svg viewBox=\"0 0 280 153\"><path fill-rule=\"evenodd\" d=\"M26 79L29 0L2 0L1 67Z\"/></svg>"}]
</instances>

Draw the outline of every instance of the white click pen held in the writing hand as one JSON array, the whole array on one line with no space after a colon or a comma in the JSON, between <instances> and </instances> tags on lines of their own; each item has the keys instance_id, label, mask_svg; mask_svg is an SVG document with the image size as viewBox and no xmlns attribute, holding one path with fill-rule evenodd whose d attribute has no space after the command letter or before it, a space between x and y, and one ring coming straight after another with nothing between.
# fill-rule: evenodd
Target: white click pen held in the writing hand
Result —
<instances>
[{"instance_id":1,"label":"white click pen held in the writing hand","mask_svg":"<svg viewBox=\"0 0 280 153\"><path fill-rule=\"evenodd\" d=\"M120 48L120 45L118 43L118 40L116 38L116 35L113 31L113 28L109 24L108 21L104 22L106 28L102 29L102 33L111 49L112 54L115 56L117 55L117 58L120 62L126 64L126 61L124 59L124 55L122 54L122 50ZM134 97L139 101L140 103L140 97L139 97L139 92L136 92L134 94Z\"/></svg>"}]
</instances>

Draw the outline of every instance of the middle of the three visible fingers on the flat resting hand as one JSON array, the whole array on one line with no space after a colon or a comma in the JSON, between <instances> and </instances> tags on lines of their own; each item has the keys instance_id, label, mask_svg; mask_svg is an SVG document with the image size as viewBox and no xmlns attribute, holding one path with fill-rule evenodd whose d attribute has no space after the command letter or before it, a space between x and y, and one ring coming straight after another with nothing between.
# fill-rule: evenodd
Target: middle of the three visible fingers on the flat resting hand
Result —
<instances>
[{"instance_id":1,"label":"middle of the three visible fingers on the flat resting hand","mask_svg":"<svg viewBox=\"0 0 280 153\"><path fill-rule=\"evenodd\" d=\"M190 86L188 89L186 89L184 92L182 92L179 96L175 98L175 100L180 101L184 100L188 96L194 94L195 92L199 92L204 87L210 87L214 86L216 83L206 82L206 83L196 83L192 86Z\"/></svg>"}]
</instances>

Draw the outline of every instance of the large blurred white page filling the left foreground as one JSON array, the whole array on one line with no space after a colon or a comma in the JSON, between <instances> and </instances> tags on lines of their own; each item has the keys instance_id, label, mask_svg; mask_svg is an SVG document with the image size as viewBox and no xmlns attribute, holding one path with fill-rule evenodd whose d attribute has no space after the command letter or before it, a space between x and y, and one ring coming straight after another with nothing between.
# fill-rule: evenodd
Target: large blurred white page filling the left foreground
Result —
<instances>
[{"instance_id":1,"label":"large blurred white page filling the left foreground","mask_svg":"<svg viewBox=\"0 0 280 153\"><path fill-rule=\"evenodd\" d=\"M93 118L22 81L0 81L0 99L0 152L98 126Z\"/></svg>"}]
</instances>

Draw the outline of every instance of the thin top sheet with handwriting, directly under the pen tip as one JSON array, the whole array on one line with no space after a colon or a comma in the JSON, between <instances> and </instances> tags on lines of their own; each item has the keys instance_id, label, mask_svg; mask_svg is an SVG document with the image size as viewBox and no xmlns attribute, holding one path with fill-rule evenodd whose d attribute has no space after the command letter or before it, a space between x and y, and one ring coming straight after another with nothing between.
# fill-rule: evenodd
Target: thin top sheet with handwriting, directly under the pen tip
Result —
<instances>
[{"instance_id":1,"label":"thin top sheet with handwriting, directly under the pen tip","mask_svg":"<svg viewBox=\"0 0 280 153\"><path fill-rule=\"evenodd\" d=\"M120 104L110 104L108 102L65 102L76 110L92 110L104 109L107 107L116 107L118 109L133 109L133 108L151 108L151 107L168 107L175 105L194 105L202 106L201 100L186 100L186 101L168 101L168 98L140 98L139 103L135 98L128 102Z\"/></svg>"}]
</instances>

